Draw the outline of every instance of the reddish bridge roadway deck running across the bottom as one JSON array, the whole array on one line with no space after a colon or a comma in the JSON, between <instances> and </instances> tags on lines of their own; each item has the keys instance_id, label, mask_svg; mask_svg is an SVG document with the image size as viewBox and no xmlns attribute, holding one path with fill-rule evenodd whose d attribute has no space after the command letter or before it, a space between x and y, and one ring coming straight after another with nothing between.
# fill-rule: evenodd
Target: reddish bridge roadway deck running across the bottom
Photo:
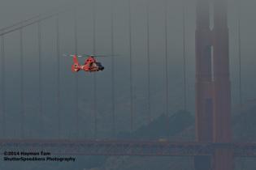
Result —
<instances>
[{"instance_id":1,"label":"reddish bridge roadway deck running across the bottom","mask_svg":"<svg viewBox=\"0 0 256 170\"><path fill-rule=\"evenodd\" d=\"M52 155L213 155L227 149L235 156L256 157L256 143L159 142L122 140L0 140L0 151L49 151Z\"/></svg>"}]
</instances>

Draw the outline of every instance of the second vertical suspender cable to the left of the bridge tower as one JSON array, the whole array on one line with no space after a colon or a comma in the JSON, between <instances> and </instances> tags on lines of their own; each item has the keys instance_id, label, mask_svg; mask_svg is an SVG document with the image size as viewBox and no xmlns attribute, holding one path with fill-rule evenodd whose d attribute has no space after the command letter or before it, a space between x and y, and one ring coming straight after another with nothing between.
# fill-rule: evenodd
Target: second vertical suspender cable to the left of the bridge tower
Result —
<instances>
[{"instance_id":1,"label":"second vertical suspender cable to the left of the bridge tower","mask_svg":"<svg viewBox=\"0 0 256 170\"><path fill-rule=\"evenodd\" d=\"M169 74L168 74L168 25L167 25L167 0L164 1L164 34L165 34L165 75L166 75L166 116L169 116ZM167 118L167 135L170 132L169 119Z\"/></svg>"}]
</instances>

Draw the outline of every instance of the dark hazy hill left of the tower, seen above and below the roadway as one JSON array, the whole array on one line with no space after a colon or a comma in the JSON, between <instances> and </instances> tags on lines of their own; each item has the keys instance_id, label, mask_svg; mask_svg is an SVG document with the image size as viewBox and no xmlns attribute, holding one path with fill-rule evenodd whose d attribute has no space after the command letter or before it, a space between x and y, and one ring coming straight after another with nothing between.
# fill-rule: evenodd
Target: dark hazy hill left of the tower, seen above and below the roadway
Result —
<instances>
[{"instance_id":1,"label":"dark hazy hill left of the tower, seen above and below the roadway","mask_svg":"<svg viewBox=\"0 0 256 170\"><path fill-rule=\"evenodd\" d=\"M194 124L194 117L185 111L174 113L171 117L161 115L149 125L141 126L133 133L121 133L119 138L137 139L137 140L161 140L185 138L193 140L194 133L190 132ZM169 130L167 130L167 127ZM181 139L182 140L182 139ZM179 163L179 164L177 164ZM191 169L193 159L184 157L140 157L140 156L111 156L106 159L100 170L166 170L166 169ZM91 169L92 170L92 169Z\"/></svg>"}]
</instances>

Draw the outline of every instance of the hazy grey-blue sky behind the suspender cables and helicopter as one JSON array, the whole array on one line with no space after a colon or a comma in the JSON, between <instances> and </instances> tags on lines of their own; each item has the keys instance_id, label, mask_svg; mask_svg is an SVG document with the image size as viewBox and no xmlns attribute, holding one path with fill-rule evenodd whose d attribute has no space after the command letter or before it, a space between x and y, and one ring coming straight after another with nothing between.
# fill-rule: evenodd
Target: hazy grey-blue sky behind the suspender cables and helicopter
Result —
<instances>
[{"instance_id":1,"label":"hazy grey-blue sky behind the suspender cables and helicopter","mask_svg":"<svg viewBox=\"0 0 256 170\"><path fill-rule=\"evenodd\" d=\"M152 93L151 104L154 117L165 112L166 101L166 79L165 79L165 35L164 35L164 13L163 2L150 1L150 78ZM1 0L0 6L0 28L11 23L31 16L44 14L53 9L63 9L63 6L72 6L71 0ZM96 51L101 54L111 52L111 1L98 0L96 14ZM128 0L114 0L115 2L115 53L121 57L115 59L115 91L117 113L119 113L120 130L128 129L129 120L129 43L128 43ZM146 0L131 0L132 2L132 74L133 74L133 97L135 113L138 117L137 126L145 123L147 104L147 57L146 57ZM77 8L78 19L78 52L92 53L93 51L93 11L92 1L79 1ZM228 27L230 35L230 63L232 81L232 103L238 104L238 55L237 55L237 21L238 3L236 0L228 1ZM243 99L249 100L256 97L255 76L255 45L254 37L256 30L254 0L243 0L241 3L241 55L242 55L242 82ZM187 89L189 111L194 113L194 32L195 32L195 0L185 1L185 45L187 57ZM183 35L182 35L182 1L169 0L167 4L168 16L168 76L169 76L169 97L170 112L183 108ZM61 54L74 53L74 20L73 11L60 16L60 41ZM49 19L42 25L42 78L43 78L43 102L45 112L51 115L54 112L54 93L56 92L55 66L56 66L56 25L55 19ZM12 104L19 105L20 95L20 43L19 32L6 36L7 66L14 65L15 70L7 68L7 108L10 113L17 112ZM70 58L61 57L61 78L62 84L59 87L62 91L63 114L67 114L72 120L74 100L74 78L70 66ZM111 58L99 59L106 70L98 73L98 112L101 115L102 125L105 120L111 121L109 113L111 110ZM38 105L38 50L37 50L37 24L24 29L24 88L26 91L26 107L28 113L37 112ZM82 60L80 60L82 62ZM79 102L80 112L92 113L93 76L91 74L79 73ZM15 100L14 100L14 96ZM107 102L106 102L107 101ZM84 115L86 116L86 115ZM9 117L11 118L11 117ZM88 117L87 117L88 118ZM92 115L86 119L88 126ZM46 117L48 120L49 117ZM11 120L10 120L11 121ZM68 125L73 125L72 121ZM52 121L54 124L54 121ZM107 126L107 125L106 125ZM108 125L110 129L110 126ZM106 130L106 129L105 129ZM102 132L102 134L104 134Z\"/></svg>"}]
</instances>

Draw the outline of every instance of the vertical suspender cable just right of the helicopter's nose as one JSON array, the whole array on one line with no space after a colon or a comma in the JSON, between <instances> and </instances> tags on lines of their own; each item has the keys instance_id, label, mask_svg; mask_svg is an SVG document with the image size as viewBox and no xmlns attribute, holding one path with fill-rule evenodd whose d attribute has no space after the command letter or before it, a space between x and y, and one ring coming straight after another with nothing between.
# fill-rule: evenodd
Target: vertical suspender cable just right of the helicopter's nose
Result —
<instances>
[{"instance_id":1,"label":"vertical suspender cable just right of the helicopter's nose","mask_svg":"<svg viewBox=\"0 0 256 170\"><path fill-rule=\"evenodd\" d=\"M115 53L114 47L114 0L111 0L111 54ZM115 57L111 59L111 91L112 91L112 135L115 138Z\"/></svg>"}]
</instances>

